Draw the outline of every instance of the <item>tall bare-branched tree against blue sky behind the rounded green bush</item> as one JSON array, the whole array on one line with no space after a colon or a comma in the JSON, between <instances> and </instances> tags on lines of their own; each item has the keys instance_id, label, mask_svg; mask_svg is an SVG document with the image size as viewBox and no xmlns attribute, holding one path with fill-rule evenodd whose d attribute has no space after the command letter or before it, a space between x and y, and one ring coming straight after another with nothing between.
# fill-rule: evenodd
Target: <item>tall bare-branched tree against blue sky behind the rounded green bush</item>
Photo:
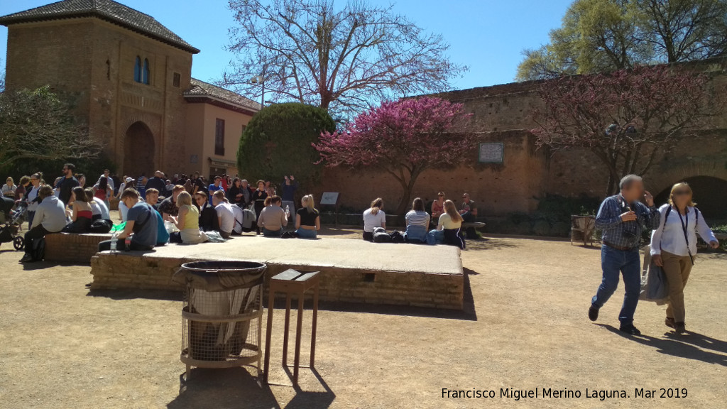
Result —
<instances>
[{"instance_id":1,"label":"tall bare-branched tree against blue sky behind the rounded green bush","mask_svg":"<svg viewBox=\"0 0 727 409\"><path fill-rule=\"evenodd\" d=\"M425 33L392 5L230 0L230 9L236 60L221 84L244 95L265 90L273 102L360 111L387 98L447 90L466 69L446 57L441 35Z\"/></svg>"}]
</instances>

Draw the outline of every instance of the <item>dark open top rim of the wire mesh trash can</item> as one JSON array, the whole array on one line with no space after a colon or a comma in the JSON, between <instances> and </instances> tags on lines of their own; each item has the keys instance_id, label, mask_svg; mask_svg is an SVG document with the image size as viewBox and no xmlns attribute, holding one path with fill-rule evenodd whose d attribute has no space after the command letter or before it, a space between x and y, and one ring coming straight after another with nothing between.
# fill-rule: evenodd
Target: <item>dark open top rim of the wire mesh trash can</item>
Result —
<instances>
[{"instance_id":1,"label":"dark open top rim of the wire mesh trash can","mask_svg":"<svg viewBox=\"0 0 727 409\"><path fill-rule=\"evenodd\" d=\"M254 261L193 261L174 273L172 282L210 293L262 284L268 266Z\"/></svg>"}]
</instances>

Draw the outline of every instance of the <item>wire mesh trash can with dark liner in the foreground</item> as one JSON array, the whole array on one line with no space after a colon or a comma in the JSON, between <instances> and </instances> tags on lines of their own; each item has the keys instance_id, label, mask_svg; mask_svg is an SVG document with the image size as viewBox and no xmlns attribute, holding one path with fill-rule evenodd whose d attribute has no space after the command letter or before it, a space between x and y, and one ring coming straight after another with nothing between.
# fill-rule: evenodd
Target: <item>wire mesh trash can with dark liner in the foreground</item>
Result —
<instances>
[{"instance_id":1,"label":"wire mesh trash can with dark liner in the foreground","mask_svg":"<svg viewBox=\"0 0 727 409\"><path fill-rule=\"evenodd\" d=\"M182 353L191 367L252 366L262 359L263 263L196 261L182 264L172 279L185 285Z\"/></svg>"}]
</instances>

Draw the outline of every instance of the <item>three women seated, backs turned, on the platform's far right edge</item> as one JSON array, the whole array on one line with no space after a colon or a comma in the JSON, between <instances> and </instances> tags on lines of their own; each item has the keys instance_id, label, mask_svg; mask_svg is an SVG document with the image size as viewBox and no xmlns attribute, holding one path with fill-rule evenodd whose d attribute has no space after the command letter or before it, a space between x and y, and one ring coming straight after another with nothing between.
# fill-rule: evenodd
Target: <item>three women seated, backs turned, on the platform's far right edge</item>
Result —
<instances>
[{"instance_id":1,"label":"three women seated, backs turned, on the platform's far right edge","mask_svg":"<svg viewBox=\"0 0 727 409\"><path fill-rule=\"evenodd\" d=\"M364 240L373 242L375 231L386 229L386 214L383 207L384 201L379 197L364 211ZM403 239L409 243L446 244L464 249L465 239L460 234L463 221L454 202L445 200L437 228L430 230L430 215L425 210L424 201L417 197L411 204L409 213L406 213L406 231L403 233Z\"/></svg>"}]
</instances>

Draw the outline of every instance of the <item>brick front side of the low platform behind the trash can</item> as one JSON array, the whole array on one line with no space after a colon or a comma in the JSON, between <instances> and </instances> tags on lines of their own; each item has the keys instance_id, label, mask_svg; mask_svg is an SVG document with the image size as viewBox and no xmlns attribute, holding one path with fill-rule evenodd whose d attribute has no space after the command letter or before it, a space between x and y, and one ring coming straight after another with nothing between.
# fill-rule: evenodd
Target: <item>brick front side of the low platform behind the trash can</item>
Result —
<instances>
[{"instance_id":1,"label":"brick front side of the low platform behind the trash can","mask_svg":"<svg viewBox=\"0 0 727 409\"><path fill-rule=\"evenodd\" d=\"M91 259L92 290L183 290L172 275L188 258L159 258L141 253L98 253ZM295 266L268 263L266 279L286 269L321 271L323 301L462 309L462 274L340 269L335 266ZM370 274L373 274L371 276Z\"/></svg>"}]
</instances>

